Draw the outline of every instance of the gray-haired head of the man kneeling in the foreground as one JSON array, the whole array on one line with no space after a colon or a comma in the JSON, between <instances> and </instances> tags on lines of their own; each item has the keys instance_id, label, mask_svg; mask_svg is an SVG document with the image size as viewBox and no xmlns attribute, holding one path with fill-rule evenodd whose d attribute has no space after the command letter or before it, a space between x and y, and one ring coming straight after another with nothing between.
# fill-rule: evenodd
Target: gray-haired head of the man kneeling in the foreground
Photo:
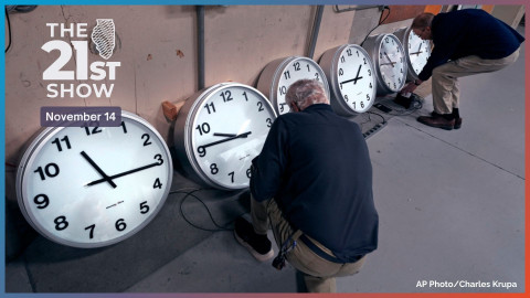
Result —
<instances>
[{"instance_id":1,"label":"gray-haired head of the man kneeling in the foreground","mask_svg":"<svg viewBox=\"0 0 530 298\"><path fill-rule=\"evenodd\" d=\"M285 95L287 105L295 103L299 109L315 104L328 104L324 85L316 79L299 79L293 83Z\"/></svg>"}]
</instances>

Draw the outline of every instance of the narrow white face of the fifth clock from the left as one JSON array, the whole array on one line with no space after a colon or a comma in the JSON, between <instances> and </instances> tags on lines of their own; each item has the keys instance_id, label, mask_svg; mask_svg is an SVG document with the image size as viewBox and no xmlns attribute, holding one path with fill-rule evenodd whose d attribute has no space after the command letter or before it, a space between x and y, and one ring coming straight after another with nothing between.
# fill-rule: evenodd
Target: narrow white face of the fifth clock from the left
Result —
<instances>
[{"instance_id":1,"label":"narrow white face of the fifth clock from the left","mask_svg":"<svg viewBox=\"0 0 530 298\"><path fill-rule=\"evenodd\" d=\"M406 64L403 45L393 34L385 34L379 46L381 81L391 92L399 92L405 84Z\"/></svg>"}]
</instances>

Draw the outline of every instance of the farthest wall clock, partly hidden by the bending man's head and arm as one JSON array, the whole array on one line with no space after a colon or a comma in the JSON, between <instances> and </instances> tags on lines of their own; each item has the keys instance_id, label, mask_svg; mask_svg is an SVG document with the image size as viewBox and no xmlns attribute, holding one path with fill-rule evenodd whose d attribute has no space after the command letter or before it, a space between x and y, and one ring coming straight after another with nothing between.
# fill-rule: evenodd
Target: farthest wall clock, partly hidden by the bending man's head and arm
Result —
<instances>
[{"instance_id":1,"label":"farthest wall clock, partly hidden by the bending man's head and arm","mask_svg":"<svg viewBox=\"0 0 530 298\"><path fill-rule=\"evenodd\" d=\"M423 66L427 64L431 56L431 42L422 40L414 34L411 28L402 28L394 32L394 35L403 43L406 53L409 81L417 79L417 75L422 72Z\"/></svg>"}]
</instances>

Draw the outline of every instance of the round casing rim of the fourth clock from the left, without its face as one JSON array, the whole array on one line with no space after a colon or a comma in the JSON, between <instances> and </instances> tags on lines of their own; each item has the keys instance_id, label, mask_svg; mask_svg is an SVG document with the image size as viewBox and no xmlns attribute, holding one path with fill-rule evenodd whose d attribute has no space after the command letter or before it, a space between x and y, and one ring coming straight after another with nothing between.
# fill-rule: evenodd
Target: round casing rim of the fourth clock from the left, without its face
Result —
<instances>
[{"instance_id":1,"label":"round casing rim of the fourth clock from the left, without its face","mask_svg":"<svg viewBox=\"0 0 530 298\"><path fill-rule=\"evenodd\" d=\"M369 110L371 108L371 106L373 105L373 103L375 102L378 82L377 82L377 78L375 78L375 74L372 75L372 85L374 86L372 88L372 94L371 94L372 100L370 100L370 103L368 104L368 107L365 107L362 111L354 110L347 103L344 103L343 95L340 92L340 86L339 86L339 82L338 82L338 78L337 78L337 74L338 74L338 68L339 68L340 56L349 47L354 49L354 50L360 50L360 52L365 57L368 57L368 63L370 64L371 71L372 72L375 71L374 65L373 65L373 61L372 61L372 57L370 56L370 54L362 46L360 46L358 44L352 44L352 43L339 45L339 46L327 50L322 54L322 56L320 57L320 63L322 63L322 64L328 64L329 63L329 67L326 67L326 70L324 70L324 71L326 72L326 75L329 76L330 89L332 91L332 95L329 97L329 99L333 104L337 104L338 109L336 110L336 113L344 115L344 116L357 116L357 115L363 114L367 110ZM329 55L331 55L331 57ZM326 61L326 60L328 60L328 61ZM328 65L321 65L321 66L328 66ZM327 68L329 68L329 74L327 73ZM340 95L340 99L338 98L339 97L338 95ZM336 105L332 105L332 106L335 107Z\"/></svg>"}]
</instances>

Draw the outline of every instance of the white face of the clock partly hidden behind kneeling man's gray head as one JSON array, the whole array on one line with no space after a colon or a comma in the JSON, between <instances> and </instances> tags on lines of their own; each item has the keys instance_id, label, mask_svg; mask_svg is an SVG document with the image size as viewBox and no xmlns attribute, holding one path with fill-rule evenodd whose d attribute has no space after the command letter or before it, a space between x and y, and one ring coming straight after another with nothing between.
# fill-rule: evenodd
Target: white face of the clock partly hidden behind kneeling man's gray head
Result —
<instances>
[{"instance_id":1,"label":"white face of the clock partly hidden behind kneeling man's gray head","mask_svg":"<svg viewBox=\"0 0 530 298\"><path fill-rule=\"evenodd\" d=\"M276 77L273 78L273 89L271 100L274 103L278 115L290 111L285 103L285 95L289 86L299 79L316 79L322 83L327 95L329 96L328 82L322 68L308 57L288 57L276 70Z\"/></svg>"}]
</instances>

